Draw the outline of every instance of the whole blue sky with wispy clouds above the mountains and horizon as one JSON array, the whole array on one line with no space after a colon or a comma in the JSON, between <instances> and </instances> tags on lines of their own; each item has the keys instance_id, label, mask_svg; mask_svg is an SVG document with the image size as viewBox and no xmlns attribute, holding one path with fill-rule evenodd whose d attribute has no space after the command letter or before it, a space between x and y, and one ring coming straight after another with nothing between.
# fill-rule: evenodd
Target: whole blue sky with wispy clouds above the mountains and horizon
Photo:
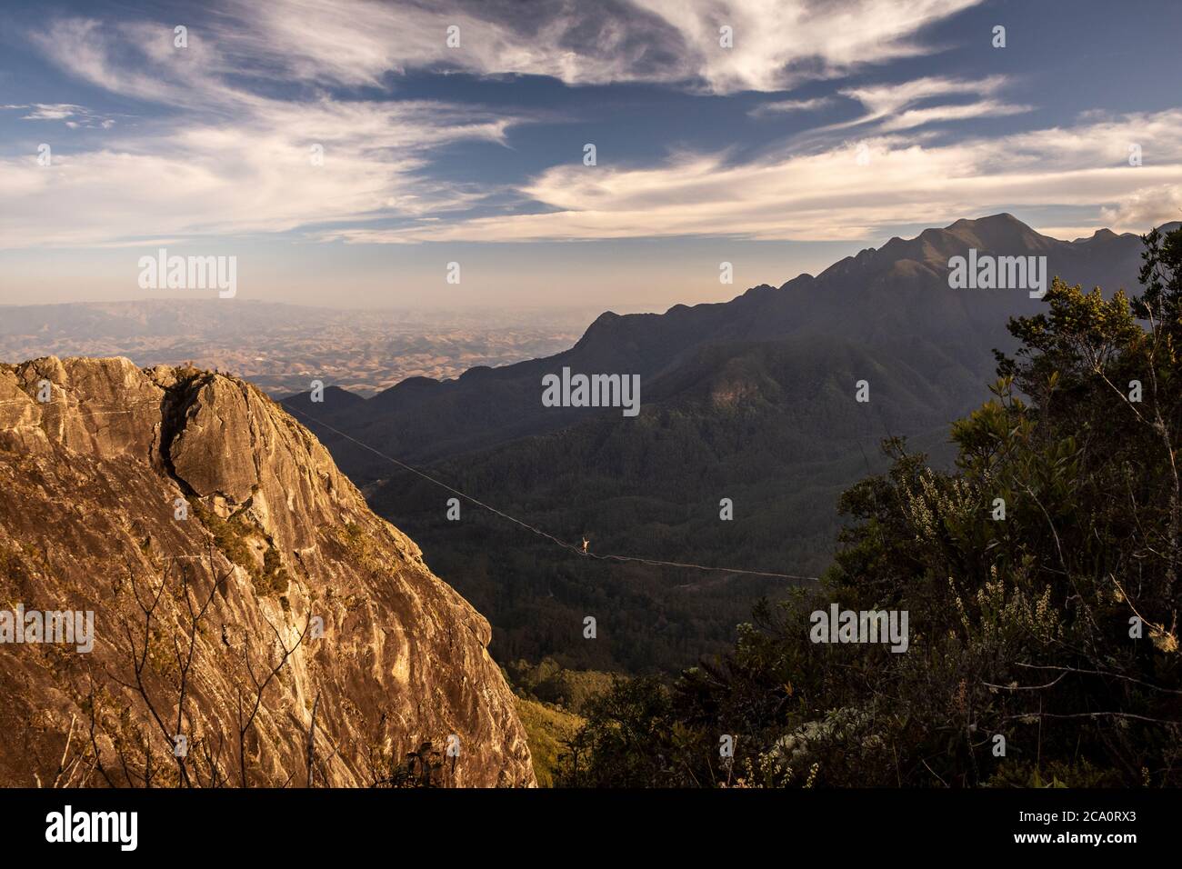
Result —
<instances>
[{"instance_id":1,"label":"whole blue sky with wispy clouds above the mountains and horizon","mask_svg":"<svg viewBox=\"0 0 1182 869\"><path fill-rule=\"evenodd\" d=\"M0 27L0 304L160 296L137 261L167 247L236 257L239 298L663 310L963 216L1182 218L1169 0L45 2Z\"/></svg>"}]
</instances>

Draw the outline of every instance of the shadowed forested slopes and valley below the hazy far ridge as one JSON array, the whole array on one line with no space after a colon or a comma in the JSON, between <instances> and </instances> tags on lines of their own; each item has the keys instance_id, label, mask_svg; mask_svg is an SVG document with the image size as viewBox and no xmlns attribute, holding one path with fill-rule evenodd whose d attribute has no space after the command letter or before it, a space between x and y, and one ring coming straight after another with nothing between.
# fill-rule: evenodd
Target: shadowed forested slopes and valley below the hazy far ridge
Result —
<instances>
[{"instance_id":1,"label":"shadowed forested slopes and valley below the hazy far ridge","mask_svg":"<svg viewBox=\"0 0 1182 869\"><path fill-rule=\"evenodd\" d=\"M831 339L714 344L636 420L605 415L430 471L567 541L586 536L595 552L820 576L842 492L885 467L884 434L923 432L950 462L943 408L975 404L962 370L931 385L914 356L901 369ZM870 403L852 401L858 371L873 372ZM449 521L447 494L407 474L368 497L488 617L499 661L675 673L729 648L756 601L794 584L584 559L468 504ZM720 521L722 498L733 520ZM583 637L587 615L595 642Z\"/></svg>"}]
</instances>

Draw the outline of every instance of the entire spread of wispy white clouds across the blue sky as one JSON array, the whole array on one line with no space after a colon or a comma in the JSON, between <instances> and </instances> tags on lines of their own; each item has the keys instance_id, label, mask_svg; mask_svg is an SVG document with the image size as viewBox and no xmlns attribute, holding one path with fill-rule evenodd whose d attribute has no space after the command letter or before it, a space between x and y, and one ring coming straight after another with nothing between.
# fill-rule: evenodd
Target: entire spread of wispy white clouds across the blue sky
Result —
<instances>
[{"instance_id":1,"label":"entire spread of wispy white clouds across the blue sky","mask_svg":"<svg viewBox=\"0 0 1182 869\"><path fill-rule=\"evenodd\" d=\"M522 15L514 4L474 0L223 0L188 22L183 50L168 21L57 19L30 34L54 66L149 110L100 147L56 147L51 167L33 155L0 157L0 245L287 232L374 244L865 239L890 223L1021 203L1103 207L1118 225L1170 219L1182 167L1173 112L953 141L946 134L956 122L1031 111L1006 98L1009 77L838 82L831 96L810 99L782 93L936 51L926 28L975 2L539 0ZM733 48L719 44L721 26L733 28ZM628 166L543 164L515 183L457 182L435 171L442 149L507 144L511 130L540 115L400 98L401 77L413 71L777 95L752 110L756 117L843 100L860 114L743 156L686 148ZM65 103L8 108L30 121L99 117ZM856 161L853 136L869 168ZM1124 166L1131 141L1154 160ZM311 158L314 145L323 164ZM496 212L496 197L513 207Z\"/></svg>"}]
</instances>

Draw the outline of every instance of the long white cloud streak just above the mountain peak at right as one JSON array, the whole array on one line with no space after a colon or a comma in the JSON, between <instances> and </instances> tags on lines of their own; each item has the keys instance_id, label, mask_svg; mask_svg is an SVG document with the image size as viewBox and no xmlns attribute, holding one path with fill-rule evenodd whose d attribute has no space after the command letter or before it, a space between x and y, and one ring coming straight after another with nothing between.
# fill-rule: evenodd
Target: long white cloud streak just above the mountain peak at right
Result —
<instances>
[{"instance_id":1,"label":"long white cloud streak just above the mountain peak at right","mask_svg":"<svg viewBox=\"0 0 1182 869\"><path fill-rule=\"evenodd\" d=\"M1152 154L1126 161L1128 143ZM869 163L858 162L858 145ZM762 240L869 239L882 227L940 223L991 209L1095 209L1099 228L1144 232L1177 219L1182 110L1066 129L937 144L877 136L816 154L730 164L678 154L643 169L556 167L521 193L537 214L331 233L355 242L538 241L733 234ZM1108 205L1109 210L1100 212Z\"/></svg>"}]
</instances>

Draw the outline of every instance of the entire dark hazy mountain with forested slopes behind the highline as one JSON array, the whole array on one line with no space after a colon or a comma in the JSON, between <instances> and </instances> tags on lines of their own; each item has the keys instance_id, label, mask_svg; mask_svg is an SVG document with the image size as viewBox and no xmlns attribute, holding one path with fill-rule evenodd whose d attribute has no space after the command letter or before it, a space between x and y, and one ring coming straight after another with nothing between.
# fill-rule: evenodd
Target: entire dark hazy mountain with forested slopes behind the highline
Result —
<instances>
[{"instance_id":1,"label":"entire dark hazy mountain with forested slopes behind the highline","mask_svg":"<svg viewBox=\"0 0 1182 869\"><path fill-rule=\"evenodd\" d=\"M842 527L838 499L883 467L881 441L905 436L934 466L950 462L949 424L989 397L992 350L1013 346L1008 319L1045 309L1022 288L950 288L946 257L970 246L1046 255L1052 274L1106 290L1134 285L1142 249L1134 235L1050 239L1005 214L957 221L730 301L605 312L556 356L417 380L348 408L291 401L547 533L589 537L598 552L819 576ZM638 417L541 407L541 376L564 367L641 374ZM489 616L502 660L676 670L727 648L759 597L784 594L738 575L703 582L583 562L475 507L449 521L436 487L311 420L377 512L446 573L466 568L459 582ZM582 618L604 608L612 629L579 642Z\"/></svg>"}]
</instances>

